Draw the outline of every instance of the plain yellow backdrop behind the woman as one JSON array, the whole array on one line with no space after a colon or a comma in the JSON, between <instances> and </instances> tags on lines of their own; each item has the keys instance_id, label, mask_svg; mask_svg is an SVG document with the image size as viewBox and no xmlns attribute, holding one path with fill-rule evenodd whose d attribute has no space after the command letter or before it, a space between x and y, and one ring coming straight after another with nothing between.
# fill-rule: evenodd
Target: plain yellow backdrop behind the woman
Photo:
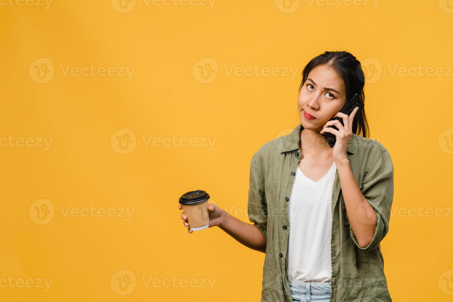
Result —
<instances>
[{"instance_id":1,"label":"plain yellow backdrop behind the woman","mask_svg":"<svg viewBox=\"0 0 453 302\"><path fill-rule=\"evenodd\" d=\"M54 0L47 9L43 1L20 1L0 6L0 138L53 140L47 150L38 140L0 147L0 279L53 281L48 291L0 288L1 301L259 301L265 255L219 228L188 234L178 198L206 190L249 222L251 157L300 122L303 67L326 50L349 51L363 63L370 138L395 166L390 231L381 244L391 297L453 299L451 1L307 0L285 8L278 0L217 0L211 9L201 0L123 0L123 9L113 0ZM35 62L42 58L52 70ZM255 64L297 74L226 71ZM65 75L68 65L135 69L126 80ZM405 75L419 65L440 67L438 75ZM39 83L35 66L53 78ZM199 66L217 77L203 79ZM120 154L116 136L131 133L132 150ZM149 135L176 143L146 146ZM181 138L195 143L180 146ZM202 138L216 139L213 148ZM39 224L34 210L43 204L53 217ZM130 221L64 216L67 206L134 213ZM426 209L442 214L429 217ZM124 269L135 288L120 295L115 274ZM143 278L177 281L146 287ZM199 286L183 288L184 279ZM215 282L211 291L202 279Z\"/></svg>"}]
</instances>

